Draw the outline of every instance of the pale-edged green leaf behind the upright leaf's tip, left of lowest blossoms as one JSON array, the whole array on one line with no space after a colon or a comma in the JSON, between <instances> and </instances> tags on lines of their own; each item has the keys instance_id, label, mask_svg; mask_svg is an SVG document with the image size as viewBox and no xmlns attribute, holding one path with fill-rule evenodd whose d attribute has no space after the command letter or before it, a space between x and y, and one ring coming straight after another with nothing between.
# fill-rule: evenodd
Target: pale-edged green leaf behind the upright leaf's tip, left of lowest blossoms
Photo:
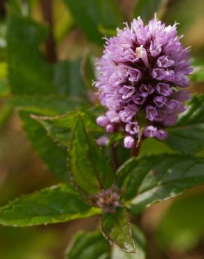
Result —
<instances>
[{"instance_id":1,"label":"pale-edged green leaf behind the upright leaf's tip, left of lowest blossoms","mask_svg":"<svg viewBox=\"0 0 204 259\"><path fill-rule=\"evenodd\" d=\"M95 116L92 113L82 113L86 128L89 132L103 132L103 129L96 125ZM49 136L61 146L68 146L71 138L71 130L78 118L78 113L69 112L62 116L31 116L34 120L41 123Z\"/></svg>"}]
</instances>

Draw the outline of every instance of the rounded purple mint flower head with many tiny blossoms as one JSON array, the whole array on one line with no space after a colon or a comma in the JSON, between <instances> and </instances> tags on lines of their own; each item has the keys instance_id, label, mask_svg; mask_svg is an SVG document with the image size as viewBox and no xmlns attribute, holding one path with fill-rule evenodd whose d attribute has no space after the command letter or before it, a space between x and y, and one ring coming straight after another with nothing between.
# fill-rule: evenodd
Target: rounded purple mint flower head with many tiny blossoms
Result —
<instances>
[{"instance_id":1,"label":"rounded purple mint flower head with many tiny blossoms","mask_svg":"<svg viewBox=\"0 0 204 259\"><path fill-rule=\"evenodd\" d=\"M182 47L180 38L176 23L166 26L154 18L144 26L137 18L130 27L117 29L117 36L106 39L94 85L108 111L96 122L106 132L125 132L126 148L138 137L141 115L145 118L143 137L166 139L163 128L175 124L177 114L185 109L189 92L184 89L192 68L189 48Z\"/></svg>"}]
</instances>

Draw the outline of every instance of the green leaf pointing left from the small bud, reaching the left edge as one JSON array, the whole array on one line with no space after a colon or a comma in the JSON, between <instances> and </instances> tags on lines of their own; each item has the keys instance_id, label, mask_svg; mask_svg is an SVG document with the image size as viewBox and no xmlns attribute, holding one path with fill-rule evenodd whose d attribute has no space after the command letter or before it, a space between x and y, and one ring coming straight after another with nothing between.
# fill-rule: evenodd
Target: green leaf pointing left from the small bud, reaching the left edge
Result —
<instances>
[{"instance_id":1,"label":"green leaf pointing left from the small bud, reaching the left edge","mask_svg":"<svg viewBox=\"0 0 204 259\"><path fill-rule=\"evenodd\" d=\"M52 186L24 195L0 209L0 224L13 226L41 225L71 221L99 214L66 185Z\"/></svg>"}]
</instances>

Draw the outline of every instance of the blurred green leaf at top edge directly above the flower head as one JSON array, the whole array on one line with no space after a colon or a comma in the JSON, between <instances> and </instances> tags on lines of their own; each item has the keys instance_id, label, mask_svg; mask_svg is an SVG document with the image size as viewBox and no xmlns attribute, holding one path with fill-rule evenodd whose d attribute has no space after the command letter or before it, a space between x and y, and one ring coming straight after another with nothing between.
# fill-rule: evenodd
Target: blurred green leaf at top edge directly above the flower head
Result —
<instances>
[{"instance_id":1,"label":"blurred green leaf at top edge directly above the flower head","mask_svg":"<svg viewBox=\"0 0 204 259\"><path fill-rule=\"evenodd\" d=\"M147 23L154 18L154 13L157 13L157 17L163 14L166 8L168 0L139 0L136 3L135 10L133 12L133 18L143 19L143 22Z\"/></svg>"}]
</instances>

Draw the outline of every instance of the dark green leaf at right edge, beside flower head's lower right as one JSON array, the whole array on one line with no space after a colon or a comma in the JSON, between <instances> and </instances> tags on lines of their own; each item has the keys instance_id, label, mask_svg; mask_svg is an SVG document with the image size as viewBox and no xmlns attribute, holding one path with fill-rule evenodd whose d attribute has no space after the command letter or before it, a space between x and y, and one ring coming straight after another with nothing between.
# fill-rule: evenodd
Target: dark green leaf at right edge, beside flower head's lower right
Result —
<instances>
[{"instance_id":1,"label":"dark green leaf at right edge, beside flower head's lower right","mask_svg":"<svg viewBox=\"0 0 204 259\"><path fill-rule=\"evenodd\" d=\"M197 153L204 146L204 96L194 96L189 109L168 128L166 143L185 154Z\"/></svg>"}]
</instances>

